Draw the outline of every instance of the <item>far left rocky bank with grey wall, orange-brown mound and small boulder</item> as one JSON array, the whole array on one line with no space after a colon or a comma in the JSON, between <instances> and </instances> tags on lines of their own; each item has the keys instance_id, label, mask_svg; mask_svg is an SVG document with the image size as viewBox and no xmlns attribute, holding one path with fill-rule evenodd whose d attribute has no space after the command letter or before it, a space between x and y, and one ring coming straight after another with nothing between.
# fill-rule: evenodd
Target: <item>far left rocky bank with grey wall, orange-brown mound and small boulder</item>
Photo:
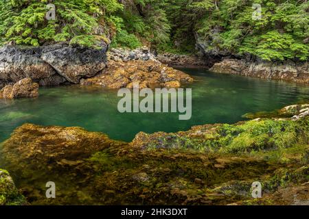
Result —
<instances>
[{"instance_id":1,"label":"far left rocky bank with grey wall, orange-brown mound and small boulder","mask_svg":"<svg viewBox=\"0 0 309 219\"><path fill-rule=\"evenodd\" d=\"M147 47L128 51L72 47L65 43L45 47L0 49L0 98L38 96L38 86L80 83L107 88L179 88L192 82L189 75L157 60ZM19 86L27 81L28 86ZM34 83L32 83L32 81ZM22 90L24 89L24 90Z\"/></svg>"}]
</instances>

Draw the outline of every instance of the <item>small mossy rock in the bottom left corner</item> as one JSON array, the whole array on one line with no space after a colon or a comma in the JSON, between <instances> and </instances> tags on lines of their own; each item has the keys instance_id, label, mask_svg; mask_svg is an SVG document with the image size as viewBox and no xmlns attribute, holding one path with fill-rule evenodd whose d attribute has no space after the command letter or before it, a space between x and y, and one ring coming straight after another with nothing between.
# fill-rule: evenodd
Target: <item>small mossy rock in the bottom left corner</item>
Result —
<instances>
[{"instance_id":1,"label":"small mossy rock in the bottom left corner","mask_svg":"<svg viewBox=\"0 0 309 219\"><path fill-rule=\"evenodd\" d=\"M27 202L6 170L0 169L0 205L26 205Z\"/></svg>"}]
</instances>

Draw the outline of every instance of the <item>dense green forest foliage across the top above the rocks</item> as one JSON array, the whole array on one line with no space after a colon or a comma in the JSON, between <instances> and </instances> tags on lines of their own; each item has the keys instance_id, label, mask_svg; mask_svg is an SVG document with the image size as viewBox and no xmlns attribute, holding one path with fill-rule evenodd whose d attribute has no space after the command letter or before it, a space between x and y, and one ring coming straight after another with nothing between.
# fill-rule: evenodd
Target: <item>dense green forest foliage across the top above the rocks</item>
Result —
<instances>
[{"instance_id":1,"label":"dense green forest foliage across the top above the rocks","mask_svg":"<svg viewBox=\"0 0 309 219\"><path fill-rule=\"evenodd\" d=\"M56 19L45 15L52 3ZM262 6L262 16L253 18ZM67 41L86 47L140 47L194 53L251 54L263 60L308 60L307 0L0 0L0 43Z\"/></svg>"}]
</instances>

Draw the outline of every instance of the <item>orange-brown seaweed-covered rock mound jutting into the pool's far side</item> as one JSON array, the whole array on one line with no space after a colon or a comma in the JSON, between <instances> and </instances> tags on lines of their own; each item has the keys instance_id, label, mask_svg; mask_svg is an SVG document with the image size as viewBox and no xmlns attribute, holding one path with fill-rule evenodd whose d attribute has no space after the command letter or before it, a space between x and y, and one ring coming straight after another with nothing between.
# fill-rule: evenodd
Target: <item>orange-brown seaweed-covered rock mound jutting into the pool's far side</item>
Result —
<instances>
[{"instance_id":1,"label":"orange-brown seaweed-covered rock mound jutting into the pool's far side","mask_svg":"<svg viewBox=\"0 0 309 219\"><path fill-rule=\"evenodd\" d=\"M133 88L133 83L139 83L139 88L158 86L179 88L181 83L192 81L190 75L170 68L165 64L151 60L134 60L129 62L110 61L108 68L104 69L100 75L82 79L80 83L82 85L98 85L114 89Z\"/></svg>"}]
</instances>

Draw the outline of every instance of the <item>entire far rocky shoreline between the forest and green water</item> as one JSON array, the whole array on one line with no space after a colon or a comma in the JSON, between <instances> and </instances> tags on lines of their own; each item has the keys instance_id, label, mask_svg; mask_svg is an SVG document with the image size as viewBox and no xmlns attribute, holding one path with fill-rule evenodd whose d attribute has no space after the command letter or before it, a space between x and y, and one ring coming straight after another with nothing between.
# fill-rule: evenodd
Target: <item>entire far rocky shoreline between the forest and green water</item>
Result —
<instances>
[{"instance_id":1,"label":"entire far rocky shoreline between the forest and green water","mask_svg":"<svg viewBox=\"0 0 309 219\"><path fill-rule=\"evenodd\" d=\"M44 47L5 46L0 49L0 89L14 86L25 78L32 79L39 86L81 83L108 88L131 88L135 82L141 83L143 88L154 84L178 88L183 82L193 81L189 75L169 66L194 66L210 68L214 73L309 83L308 62L298 65L236 59L220 62L218 57L210 57L172 53L155 55L147 47L108 49L108 44L102 45L100 50L72 47L65 43Z\"/></svg>"}]
</instances>

